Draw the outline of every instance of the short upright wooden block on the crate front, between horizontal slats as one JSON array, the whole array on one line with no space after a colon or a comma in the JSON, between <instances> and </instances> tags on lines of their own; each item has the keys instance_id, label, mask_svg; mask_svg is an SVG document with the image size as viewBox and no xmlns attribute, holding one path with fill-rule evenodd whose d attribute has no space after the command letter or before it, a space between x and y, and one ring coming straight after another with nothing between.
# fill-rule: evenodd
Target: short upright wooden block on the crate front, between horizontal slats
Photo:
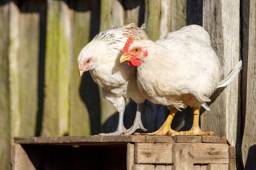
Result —
<instances>
[{"instance_id":1,"label":"short upright wooden block on the crate front, between horizontal slats","mask_svg":"<svg viewBox=\"0 0 256 170\"><path fill-rule=\"evenodd\" d=\"M193 170L193 146L191 144L173 144L172 170Z\"/></svg>"}]
</instances>

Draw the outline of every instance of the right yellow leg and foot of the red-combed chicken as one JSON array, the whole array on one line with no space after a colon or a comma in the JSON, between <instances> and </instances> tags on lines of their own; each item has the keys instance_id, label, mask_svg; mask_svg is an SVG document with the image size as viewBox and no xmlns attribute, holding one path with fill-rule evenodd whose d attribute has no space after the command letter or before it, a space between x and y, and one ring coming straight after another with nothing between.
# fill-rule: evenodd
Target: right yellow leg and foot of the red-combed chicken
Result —
<instances>
[{"instance_id":1,"label":"right yellow leg and foot of the red-combed chicken","mask_svg":"<svg viewBox=\"0 0 256 170\"><path fill-rule=\"evenodd\" d=\"M192 128L189 131L180 131L172 133L172 136L189 136L189 135L213 135L213 132L202 132L199 127L199 113L200 108L193 107L194 109L194 119Z\"/></svg>"}]
</instances>

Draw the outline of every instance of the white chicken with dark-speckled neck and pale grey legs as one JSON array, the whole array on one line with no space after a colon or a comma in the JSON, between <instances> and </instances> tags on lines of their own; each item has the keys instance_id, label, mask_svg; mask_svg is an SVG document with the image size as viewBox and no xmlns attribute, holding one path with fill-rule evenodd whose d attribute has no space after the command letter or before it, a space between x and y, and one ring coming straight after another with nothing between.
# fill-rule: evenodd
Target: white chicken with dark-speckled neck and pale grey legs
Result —
<instances>
[{"instance_id":1,"label":"white chicken with dark-speckled neck and pale grey legs","mask_svg":"<svg viewBox=\"0 0 256 170\"><path fill-rule=\"evenodd\" d=\"M138 128L146 131L140 118L145 98L136 83L136 68L119 63L122 48L128 37L136 40L148 39L141 28L131 23L100 32L78 56L80 76L89 70L93 80L101 87L102 97L111 102L119 112L117 131L99 135L130 135ZM125 104L130 98L137 103L137 113L133 126L126 130L123 115Z\"/></svg>"}]
</instances>

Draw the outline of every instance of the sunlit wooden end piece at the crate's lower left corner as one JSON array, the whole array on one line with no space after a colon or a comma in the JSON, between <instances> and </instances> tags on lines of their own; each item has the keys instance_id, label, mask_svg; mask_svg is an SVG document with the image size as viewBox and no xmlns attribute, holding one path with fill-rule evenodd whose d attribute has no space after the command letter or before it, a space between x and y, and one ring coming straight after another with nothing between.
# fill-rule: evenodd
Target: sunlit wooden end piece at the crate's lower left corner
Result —
<instances>
[{"instance_id":1,"label":"sunlit wooden end piece at the crate's lower left corner","mask_svg":"<svg viewBox=\"0 0 256 170\"><path fill-rule=\"evenodd\" d=\"M36 170L28 154L20 144L12 144L12 170Z\"/></svg>"}]
</instances>

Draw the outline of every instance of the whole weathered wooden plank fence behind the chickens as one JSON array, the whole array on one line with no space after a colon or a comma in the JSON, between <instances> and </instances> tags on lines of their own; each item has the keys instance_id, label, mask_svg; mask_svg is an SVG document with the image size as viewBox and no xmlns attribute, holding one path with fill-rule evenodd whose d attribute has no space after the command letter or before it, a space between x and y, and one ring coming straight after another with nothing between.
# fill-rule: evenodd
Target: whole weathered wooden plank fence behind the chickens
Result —
<instances>
[{"instance_id":1,"label":"whole weathered wooden plank fence behind the chickens","mask_svg":"<svg viewBox=\"0 0 256 170\"><path fill-rule=\"evenodd\" d=\"M236 146L237 168L249 167L256 145L256 0L1 0L0 169L8 170L13 136L84 136L116 130L118 114L100 97L87 72L79 77L79 51L99 31L134 22L146 24L153 40L185 25L210 34L223 77L241 58L243 69L211 97L203 130L227 136ZM129 128L136 104L125 112ZM166 118L165 106L144 104L149 132ZM174 129L192 124L188 108ZM249 149L250 148L250 149ZM249 153L248 153L249 151Z\"/></svg>"}]
</instances>

